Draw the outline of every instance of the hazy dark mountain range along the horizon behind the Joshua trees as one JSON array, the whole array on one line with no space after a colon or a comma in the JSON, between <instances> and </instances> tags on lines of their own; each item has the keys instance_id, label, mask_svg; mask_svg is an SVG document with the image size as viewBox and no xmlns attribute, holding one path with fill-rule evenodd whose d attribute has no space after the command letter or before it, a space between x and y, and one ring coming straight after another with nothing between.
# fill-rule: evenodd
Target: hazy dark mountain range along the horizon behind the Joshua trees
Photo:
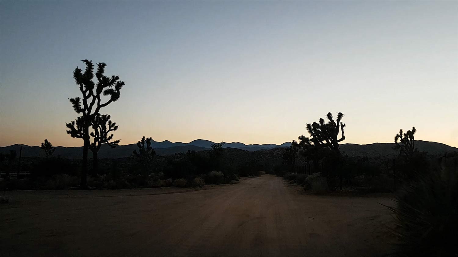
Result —
<instances>
[{"instance_id":1,"label":"hazy dark mountain range along the horizon behind the Joshua trees","mask_svg":"<svg viewBox=\"0 0 458 257\"><path fill-rule=\"evenodd\" d=\"M211 149L211 145L214 142L197 139L189 143L182 142L170 142L168 140L163 142L153 141L151 146L155 149L158 155L172 155L179 152L187 152L188 150L194 151L205 151ZM20 147L22 146L22 157L45 157L44 151L39 146L27 146L27 145L11 145L7 147L0 147L1 153L7 153L10 150L16 150L19 155ZM289 147L290 142L285 142L281 145L276 144L253 144L245 145L240 142L224 143L225 148L238 148L245 151L258 151L258 150L269 150L277 147ZM374 156L374 155L394 155L396 152L393 150L394 143L373 143L367 145L359 144L342 144L340 146L341 152L349 156ZM450 151L458 151L458 148L447 146L446 144L428 141L415 141L415 146L420 151L429 153L443 153ZM98 152L99 158L122 158L132 154L137 149L136 144L117 146L111 148L107 145L103 145ZM60 156L65 158L77 159L82 156L82 147L56 147L54 156ZM91 151L89 151L89 157L92 157Z\"/></svg>"}]
</instances>

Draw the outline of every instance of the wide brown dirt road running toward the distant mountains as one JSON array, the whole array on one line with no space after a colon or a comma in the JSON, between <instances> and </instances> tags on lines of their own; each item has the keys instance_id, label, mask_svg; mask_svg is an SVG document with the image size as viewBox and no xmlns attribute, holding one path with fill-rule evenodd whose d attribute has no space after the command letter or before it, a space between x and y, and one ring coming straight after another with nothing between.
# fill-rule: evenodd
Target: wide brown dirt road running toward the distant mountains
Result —
<instances>
[{"instance_id":1,"label":"wide brown dirt road running toward the distant mountains","mask_svg":"<svg viewBox=\"0 0 458 257\"><path fill-rule=\"evenodd\" d=\"M1 256L383 256L386 197L307 195L273 175L195 189L16 191Z\"/></svg>"}]
</instances>

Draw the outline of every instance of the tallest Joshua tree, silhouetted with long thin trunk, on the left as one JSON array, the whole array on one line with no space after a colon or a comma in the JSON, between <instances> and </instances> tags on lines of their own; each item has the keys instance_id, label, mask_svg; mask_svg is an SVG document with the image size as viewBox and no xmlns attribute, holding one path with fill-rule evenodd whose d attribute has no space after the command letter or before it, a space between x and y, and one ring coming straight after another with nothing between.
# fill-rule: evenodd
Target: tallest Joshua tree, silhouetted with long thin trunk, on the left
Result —
<instances>
[{"instance_id":1,"label":"tallest Joshua tree, silhouetted with long thin trunk, on the left","mask_svg":"<svg viewBox=\"0 0 458 257\"><path fill-rule=\"evenodd\" d=\"M82 114L76 118L76 121L67 123L66 126L69 130L67 133L72 137L82 138L83 145L83 160L81 169L81 187L86 187L86 175L87 175L87 151L91 146L89 128L92 126L92 121L95 120L96 115L99 113L102 107L115 102L120 98L120 90L124 86L125 82L119 80L119 76L107 77L104 75L105 63L97 63L97 72L94 78L94 65L92 61L83 60L86 64L86 70L82 70L76 67L73 71L73 78L76 84L79 86L82 97L70 98L70 102L73 105L73 109L78 114ZM109 96L109 99L102 102L102 95ZM76 127L75 127L76 126ZM72 131L81 132L80 134L72 133Z\"/></svg>"}]
</instances>

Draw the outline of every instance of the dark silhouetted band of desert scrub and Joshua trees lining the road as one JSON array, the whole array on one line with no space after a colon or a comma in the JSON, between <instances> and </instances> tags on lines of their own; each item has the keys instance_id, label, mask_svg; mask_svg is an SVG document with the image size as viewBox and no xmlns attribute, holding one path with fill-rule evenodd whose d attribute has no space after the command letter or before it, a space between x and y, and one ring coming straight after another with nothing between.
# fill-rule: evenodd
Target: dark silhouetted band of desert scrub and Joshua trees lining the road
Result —
<instances>
[{"instance_id":1,"label":"dark silhouetted band of desert scrub and Joshua trees lining the road","mask_svg":"<svg viewBox=\"0 0 458 257\"><path fill-rule=\"evenodd\" d=\"M3 191L203 187L258 176L262 171L303 186L311 194L393 193L397 205L387 207L398 224L393 233L400 241L399 254L457 256L458 154L420 152L415 147L415 127L405 133L400 130L394 137L396 156L343 154L339 145L345 140L344 114L338 112L334 119L328 112L327 121L319 118L306 124L309 135L299 136L288 148L247 152L215 143L207 151L158 156L151 147L152 138L143 136L130 157L99 160L103 144L116 147L120 142L111 133L118 125L100 110L119 100L125 82L119 76L105 76L105 63L97 63L94 74L92 61L83 62L85 71L76 68L73 73L82 96L70 98L79 116L66 124L67 133L83 141L82 159L55 156L48 139L41 144L46 158L21 159L15 151L1 153L0 164L6 170L0 184ZM17 172L17 179L10 179L21 169L30 174L21 177Z\"/></svg>"}]
</instances>

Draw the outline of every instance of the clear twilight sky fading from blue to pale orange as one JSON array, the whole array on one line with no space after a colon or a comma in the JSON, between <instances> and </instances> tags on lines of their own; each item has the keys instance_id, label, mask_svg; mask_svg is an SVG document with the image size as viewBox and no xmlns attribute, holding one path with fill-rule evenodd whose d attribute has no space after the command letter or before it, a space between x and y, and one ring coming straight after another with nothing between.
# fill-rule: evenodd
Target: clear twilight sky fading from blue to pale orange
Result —
<instances>
[{"instance_id":1,"label":"clear twilight sky fading from blue to pale orange","mask_svg":"<svg viewBox=\"0 0 458 257\"><path fill-rule=\"evenodd\" d=\"M342 143L458 147L458 1L1 0L1 146L82 146L83 59L125 81L101 109L121 145L281 144L331 111Z\"/></svg>"}]
</instances>

